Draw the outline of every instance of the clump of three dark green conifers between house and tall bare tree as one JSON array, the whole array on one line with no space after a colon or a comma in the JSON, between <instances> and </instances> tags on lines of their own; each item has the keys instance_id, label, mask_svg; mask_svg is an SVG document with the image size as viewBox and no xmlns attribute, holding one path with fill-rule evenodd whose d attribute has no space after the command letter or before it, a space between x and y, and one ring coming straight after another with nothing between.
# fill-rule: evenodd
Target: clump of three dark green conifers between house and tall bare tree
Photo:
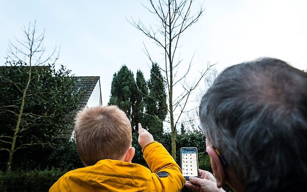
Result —
<instances>
[{"instance_id":1,"label":"clump of three dark green conifers between house and tall bare tree","mask_svg":"<svg viewBox=\"0 0 307 192\"><path fill-rule=\"evenodd\" d=\"M133 133L138 130L138 123L142 123L153 135L161 135L167 114L164 87L164 79L157 64L152 65L147 83L140 70L134 80L133 73L123 65L113 75L109 104L119 106L126 113Z\"/></svg>"}]
</instances>

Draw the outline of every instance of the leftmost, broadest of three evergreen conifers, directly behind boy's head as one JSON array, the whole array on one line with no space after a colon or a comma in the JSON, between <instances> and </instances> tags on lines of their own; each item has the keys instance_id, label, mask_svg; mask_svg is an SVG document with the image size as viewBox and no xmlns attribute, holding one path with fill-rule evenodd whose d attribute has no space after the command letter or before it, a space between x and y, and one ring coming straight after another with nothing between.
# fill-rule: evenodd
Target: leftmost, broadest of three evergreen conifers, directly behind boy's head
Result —
<instances>
[{"instance_id":1,"label":"leftmost, broadest of three evergreen conifers, directly behind boy's head","mask_svg":"<svg viewBox=\"0 0 307 192\"><path fill-rule=\"evenodd\" d=\"M123 65L121 69L113 75L111 84L111 98L109 105L117 105L122 109L128 119L132 120L132 109L136 101L137 87L134 82L133 73Z\"/></svg>"}]
</instances>

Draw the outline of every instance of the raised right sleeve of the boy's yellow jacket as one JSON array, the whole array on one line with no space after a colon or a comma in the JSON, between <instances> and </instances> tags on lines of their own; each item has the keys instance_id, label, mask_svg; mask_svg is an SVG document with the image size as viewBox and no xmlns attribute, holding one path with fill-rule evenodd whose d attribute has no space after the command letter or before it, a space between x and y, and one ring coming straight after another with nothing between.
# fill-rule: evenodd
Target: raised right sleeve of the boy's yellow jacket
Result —
<instances>
[{"instance_id":1,"label":"raised right sleeve of the boy's yellow jacket","mask_svg":"<svg viewBox=\"0 0 307 192\"><path fill-rule=\"evenodd\" d=\"M146 146L143 157L152 171L152 180L156 191L178 192L185 185L182 170L161 143L153 142ZM159 177L157 173L162 171L169 175Z\"/></svg>"}]
</instances>

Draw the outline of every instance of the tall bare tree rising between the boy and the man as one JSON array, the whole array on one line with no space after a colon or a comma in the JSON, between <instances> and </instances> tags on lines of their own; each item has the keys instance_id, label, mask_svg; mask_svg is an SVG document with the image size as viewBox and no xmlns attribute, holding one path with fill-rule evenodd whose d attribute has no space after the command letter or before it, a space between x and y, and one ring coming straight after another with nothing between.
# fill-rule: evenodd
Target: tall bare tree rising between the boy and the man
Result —
<instances>
[{"instance_id":1,"label":"tall bare tree rising between the boy and the man","mask_svg":"<svg viewBox=\"0 0 307 192\"><path fill-rule=\"evenodd\" d=\"M150 0L149 2L150 7L144 7L156 16L159 24L145 26L142 22L135 22L132 18L129 22L153 40L163 51L162 55L165 59L165 66L160 66L160 69L164 73L166 82L172 137L172 156L176 159L176 126L180 123L182 114L186 112L189 97L212 66L208 63L207 69L200 71L198 78L188 82L186 78L191 69L192 59L187 64L182 62L183 60L178 53L178 48L180 47L179 40L182 34L204 14L204 8L200 5L197 12L193 14L192 4L194 0L158 0L156 3ZM151 63L155 63L146 46L144 52ZM186 71L182 76L179 76L177 72L179 69L182 71L182 66L186 67ZM177 85L183 90L180 94L174 94L173 90Z\"/></svg>"}]
</instances>

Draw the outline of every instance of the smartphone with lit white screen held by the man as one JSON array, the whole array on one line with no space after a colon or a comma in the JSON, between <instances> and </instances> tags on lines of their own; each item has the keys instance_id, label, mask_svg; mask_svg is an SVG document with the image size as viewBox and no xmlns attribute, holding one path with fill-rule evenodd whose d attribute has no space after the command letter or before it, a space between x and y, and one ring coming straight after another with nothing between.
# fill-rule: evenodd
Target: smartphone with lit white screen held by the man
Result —
<instances>
[{"instance_id":1,"label":"smartphone with lit white screen held by the man","mask_svg":"<svg viewBox=\"0 0 307 192\"><path fill-rule=\"evenodd\" d=\"M199 177L198 172L198 153L196 147L182 147L180 149L181 170L185 180L190 176Z\"/></svg>"}]
</instances>

